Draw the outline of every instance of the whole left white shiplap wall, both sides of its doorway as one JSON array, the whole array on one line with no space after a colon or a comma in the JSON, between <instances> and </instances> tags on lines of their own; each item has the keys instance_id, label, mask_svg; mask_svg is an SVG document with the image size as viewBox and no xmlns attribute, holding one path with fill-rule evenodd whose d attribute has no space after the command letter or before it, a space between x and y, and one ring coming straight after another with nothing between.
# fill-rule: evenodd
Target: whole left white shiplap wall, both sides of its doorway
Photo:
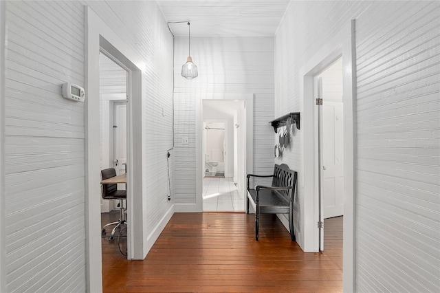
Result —
<instances>
[{"instance_id":1,"label":"whole left white shiplap wall, both sides of its doorway","mask_svg":"<svg viewBox=\"0 0 440 293\"><path fill-rule=\"evenodd\" d=\"M1 162L8 292L86 290L84 105L61 96L65 81L85 83L85 4L146 64L145 251L172 204L166 150L173 136L173 39L156 3L8 1Z\"/></svg>"}]
</instances>

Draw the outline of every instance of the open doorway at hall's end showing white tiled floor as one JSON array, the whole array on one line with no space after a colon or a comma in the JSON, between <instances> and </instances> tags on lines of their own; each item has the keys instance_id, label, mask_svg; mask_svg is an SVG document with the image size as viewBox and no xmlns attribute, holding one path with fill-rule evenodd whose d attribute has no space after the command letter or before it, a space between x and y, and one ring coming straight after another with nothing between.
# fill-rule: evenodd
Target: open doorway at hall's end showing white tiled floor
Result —
<instances>
[{"instance_id":1,"label":"open doorway at hall's end showing white tiled floor","mask_svg":"<svg viewBox=\"0 0 440 293\"><path fill-rule=\"evenodd\" d=\"M203 211L244 212L245 102L203 100Z\"/></svg>"}]
</instances>

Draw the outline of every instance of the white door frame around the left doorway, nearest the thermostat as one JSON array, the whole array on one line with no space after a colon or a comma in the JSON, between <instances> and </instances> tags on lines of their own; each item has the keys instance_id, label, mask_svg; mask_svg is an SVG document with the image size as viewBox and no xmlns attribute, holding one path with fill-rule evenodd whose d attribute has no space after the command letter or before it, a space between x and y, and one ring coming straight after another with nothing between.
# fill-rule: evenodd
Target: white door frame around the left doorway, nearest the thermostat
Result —
<instances>
[{"instance_id":1,"label":"white door frame around the left doorway, nearest the thermostat","mask_svg":"<svg viewBox=\"0 0 440 293\"><path fill-rule=\"evenodd\" d=\"M142 59L127 46L98 15L85 6L85 218L87 292L102 291L100 235L100 169L99 169L99 52L104 50L113 60L129 69L131 86L127 85L127 210L128 259L144 259L142 243ZM136 182L136 184L133 184ZM131 213L130 213L131 212Z\"/></svg>"}]
</instances>

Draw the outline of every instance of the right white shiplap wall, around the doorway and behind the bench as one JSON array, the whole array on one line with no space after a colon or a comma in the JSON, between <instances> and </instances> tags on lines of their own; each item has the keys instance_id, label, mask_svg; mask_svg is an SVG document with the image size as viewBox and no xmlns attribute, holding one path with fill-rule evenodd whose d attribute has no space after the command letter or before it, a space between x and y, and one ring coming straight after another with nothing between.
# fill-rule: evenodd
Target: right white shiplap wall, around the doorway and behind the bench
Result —
<instances>
[{"instance_id":1,"label":"right white shiplap wall, around the doorway and behind the bench","mask_svg":"<svg viewBox=\"0 0 440 293\"><path fill-rule=\"evenodd\" d=\"M356 19L357 292L440 290L439 15L438 1L294 1L276 34L281 114L300 109L299 69Z\"/></svg>"}]
</instances>

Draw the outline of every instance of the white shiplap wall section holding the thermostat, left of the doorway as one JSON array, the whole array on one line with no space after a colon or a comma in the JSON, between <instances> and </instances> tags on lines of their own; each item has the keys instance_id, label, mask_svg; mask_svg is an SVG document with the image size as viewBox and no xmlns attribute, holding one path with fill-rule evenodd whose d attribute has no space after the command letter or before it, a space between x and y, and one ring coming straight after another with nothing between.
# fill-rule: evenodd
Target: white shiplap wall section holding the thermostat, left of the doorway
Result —
<instances>
[{"instance_id":1,"label":"white shiplap wall section holding the thermostat, left of the doorway","mask_svg":"<svg viewBox=\"0 0 440 293\"><path fill-rule=\"evenodd\" d=\"M83 6L72 8L7 3L8 292L85 291L84 107L61 97L65 81L84 84Z\"/></svg>"}]
</instances>

